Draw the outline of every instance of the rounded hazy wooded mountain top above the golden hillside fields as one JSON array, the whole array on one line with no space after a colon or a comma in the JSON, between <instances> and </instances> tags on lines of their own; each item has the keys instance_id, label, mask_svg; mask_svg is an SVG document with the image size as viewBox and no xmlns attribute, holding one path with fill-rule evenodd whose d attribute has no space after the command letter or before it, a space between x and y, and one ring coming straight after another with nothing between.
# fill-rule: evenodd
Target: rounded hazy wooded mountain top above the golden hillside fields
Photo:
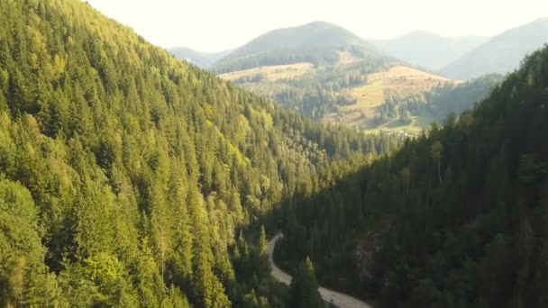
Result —
<instances>
[{"instance_id":1,"label":"rounded hazy wooded mountain top above the golden hillside fields","mask_svg":"<svg viewBox=\"0 0 548 308\"><path fill-rule=\"evenodd\" d=\"M332 23L314 22L267 32L233 50L212 67L217 73L269 65L335 64L341 53L353 59L387 59L370 43Z\"/></svg>"}]
</instances>

